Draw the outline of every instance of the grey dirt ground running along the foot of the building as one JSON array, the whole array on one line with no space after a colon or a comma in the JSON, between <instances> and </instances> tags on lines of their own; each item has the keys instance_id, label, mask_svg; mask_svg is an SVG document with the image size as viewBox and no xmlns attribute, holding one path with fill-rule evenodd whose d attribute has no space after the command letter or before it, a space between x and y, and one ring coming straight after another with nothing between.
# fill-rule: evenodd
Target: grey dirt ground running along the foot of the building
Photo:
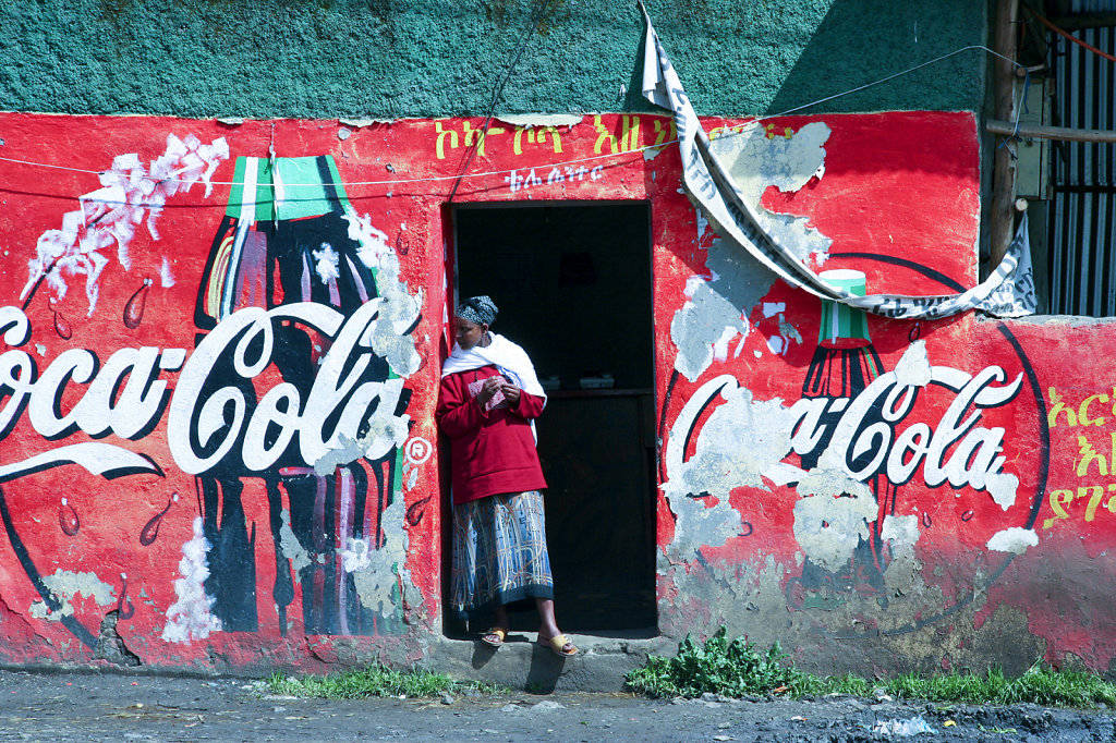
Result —
<instances>
[{"instance_id":1,"label":"grey dirt ground running along the foot of the building","mask_svg":"<svg viewBox=\"0 0 1116 743\"><path fill-rule=\"evenodd\" d=\"M947 724L947 723L953 724ZM933 732L914 734L923 723ZM887 698L456 694L328 702L242 678L0 670L0 741L1114 741L1116 713Z\"/></svg>"}]
</instances>

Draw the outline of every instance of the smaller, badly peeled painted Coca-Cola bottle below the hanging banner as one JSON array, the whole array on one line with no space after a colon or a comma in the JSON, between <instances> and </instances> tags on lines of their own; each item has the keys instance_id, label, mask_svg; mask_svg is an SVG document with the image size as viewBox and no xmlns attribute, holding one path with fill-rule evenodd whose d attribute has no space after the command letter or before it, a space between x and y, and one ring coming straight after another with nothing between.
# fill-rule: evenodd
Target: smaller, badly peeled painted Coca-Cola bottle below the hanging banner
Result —
<instances>
[{"instance_id":1,"label":"smaller, badly peeled painted Coca-Cola bottle below the hanging banner","mask_svg":"<svg viewBox=\"0 0 1116 743\"><path fill-rule=\"evenodd\" d=\"M865 274L860 271L834 270L824 271L820 278L827 283L863 297L866 293ZM828 404L821 414L817 444L809 453L801 455L801 467L812 470L817 466L821 454L828 448L843 412L864 388L883 374L879 356L872 346L868 334L868 318L863 310L847 305L822 300L821 324L818 331L818 347L814 351L806 379L802 382L804 398L826 398ZM867 418L878 416L878 411L870 411ZM870 419L862 425L868 425ZM846 463L854 471L860 471L868 464L872 452ZM860 459L865 461L859 461ZM834 596L856 591L862 596L873 596L881 606L887 605L884 587L884 570L887 568L889 554L881 537L884 520L895 511L896 488L881 471L872 473L865 480L876 499L876 519L867 524L868 537L859 538L848 563L839 571L828 570L807 557L802 566L800 588L807 591L824 594L826 598L818 599L825 604L834 600ZM799 587L796 586L796 590ZM798 597L802 600L802 597ZM840 599L837 599L839 602ZM809 604L809 600L806 600Z\"/></svg>"}]
</instances>

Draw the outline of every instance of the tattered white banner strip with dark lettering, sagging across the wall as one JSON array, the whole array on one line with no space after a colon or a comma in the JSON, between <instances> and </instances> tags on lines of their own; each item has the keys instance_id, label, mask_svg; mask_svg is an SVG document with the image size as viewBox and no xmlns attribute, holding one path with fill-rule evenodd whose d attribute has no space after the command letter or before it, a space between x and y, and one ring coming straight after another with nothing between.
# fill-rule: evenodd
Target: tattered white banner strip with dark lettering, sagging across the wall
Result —
<instances>
[{"instance_id":1,"label":"tattered white banner strip with dark lettering, sagging across the wall","mask_svg":"<svg viewBox=\"0 0 1116 743\"><path fill-rule=\"evenodd\" d=\"M868 295L857 297L822 281L802 264L778 239L760 226L754 209L744 200L728 168L710 146L709 135L671 61L647 10L639 3L647 21L644 39L643 95L647 100L674 114L682 155L682 181L690 200L700 209L722 240L735 243L793 287L874 315L912 320L933 320L979 309L1000 317L1035 312L1035 291L1030 277L1030 245L1027 219L995 271L983 282L960 295L910 297Z\"/></svg>"}]
</instances>

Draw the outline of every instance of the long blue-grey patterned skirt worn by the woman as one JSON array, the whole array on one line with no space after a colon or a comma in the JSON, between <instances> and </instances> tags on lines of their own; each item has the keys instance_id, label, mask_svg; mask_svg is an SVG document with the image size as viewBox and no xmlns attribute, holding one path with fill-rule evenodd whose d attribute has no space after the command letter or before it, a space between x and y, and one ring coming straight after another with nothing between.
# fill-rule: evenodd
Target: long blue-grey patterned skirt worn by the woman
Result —
<instances>
[{"instance_id":1,"label":"long blue-grey patterned skirt worn by the woman","mask_svg":"<svg viewBox=\"0 0 1116 743\"><path fill-rule=\"evenodd\" d=\"M465 619L523 598L554 598L542 493L501 493L453 506L450 594Z\"/></svg>"}]
</instances>

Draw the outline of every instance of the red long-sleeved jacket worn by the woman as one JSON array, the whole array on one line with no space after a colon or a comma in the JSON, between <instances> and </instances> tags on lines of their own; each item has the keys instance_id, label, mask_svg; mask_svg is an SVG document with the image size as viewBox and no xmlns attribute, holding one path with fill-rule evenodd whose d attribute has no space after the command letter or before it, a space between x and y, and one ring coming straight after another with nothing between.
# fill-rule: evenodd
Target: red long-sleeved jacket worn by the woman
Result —
<instances>
[{"instance_id":1,"label":"red long-sleeved jacket worn by the woman","mask_svg":"<svg viewBox=\"0 0 1116 743\"><path fill-rule=\"evenodd\" d=\"M547 486L530 425L542 413L543 398L520 392L514 407L506 402L483 411L469 392L470 384L498 374L484 366L442 378L434 417L450 437L454 503Z\"/></svg>"}]
</instances>

